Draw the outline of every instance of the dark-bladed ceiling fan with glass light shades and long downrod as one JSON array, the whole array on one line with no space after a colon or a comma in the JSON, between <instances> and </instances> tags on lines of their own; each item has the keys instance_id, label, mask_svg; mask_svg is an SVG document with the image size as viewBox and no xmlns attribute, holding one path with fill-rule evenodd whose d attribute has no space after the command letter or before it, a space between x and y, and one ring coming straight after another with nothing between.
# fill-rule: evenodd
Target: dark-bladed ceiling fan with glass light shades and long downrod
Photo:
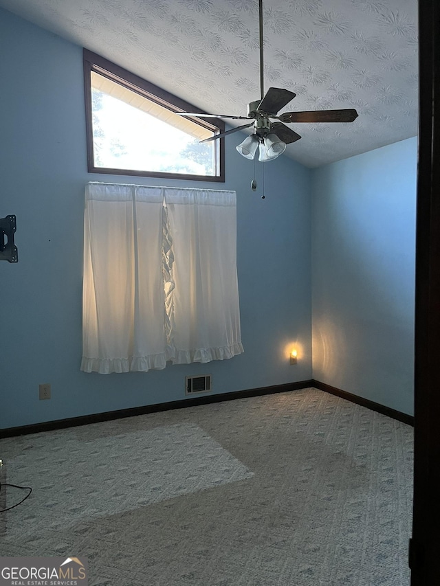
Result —
<instances>
[{"instance_id":1,"label":"dark-bladed ceiling fan with glass light shades and long downrod","mask_svg":"<svg viewBox=\"0 0 440 586\"><path fill-rule=\"evenodd\" d=\"M259 148L259 160L271 161L284 152L287 144L301 138L289 126L286 126L284 124L285 122L353 122L358 117L358 112L354 109L284 112L278 116L278 112L294 99L296 93L278 87L270 87L267 93L264 93L263 0L259 0L259 30L261 99L248 104L247 116L176 112L180 116L230 118L233 120L252 120L252 122L243 124L243 126L238 126L237 128L232 128L230 131L214 135L200 142L217 140L228 134L241 131L243 128L254 126L252 135L236 146L236 150L243 157L246 157L246 159L253 159L256 149ZM272 122L272 120L278 120L279 122Z\"/></svg>"}]
</instances>

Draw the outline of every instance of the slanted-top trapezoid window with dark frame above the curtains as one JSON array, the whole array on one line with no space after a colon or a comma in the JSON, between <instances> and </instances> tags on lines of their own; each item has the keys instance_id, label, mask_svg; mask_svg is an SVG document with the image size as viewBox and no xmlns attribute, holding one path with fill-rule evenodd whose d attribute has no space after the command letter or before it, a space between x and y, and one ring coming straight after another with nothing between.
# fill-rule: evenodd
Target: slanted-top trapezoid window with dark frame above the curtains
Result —
<instances>
[{"instance_id":1,"label":"slanted-top trapezoid window with dark frame above the curtains","mask_svg":"<svg viewBox=\"0 0 440 586\"><path fill-rule=\"evenodd\" d=\"M224 181L224 132L217 118L84 49L89 172Z\"/></svg>"}]
</instances>

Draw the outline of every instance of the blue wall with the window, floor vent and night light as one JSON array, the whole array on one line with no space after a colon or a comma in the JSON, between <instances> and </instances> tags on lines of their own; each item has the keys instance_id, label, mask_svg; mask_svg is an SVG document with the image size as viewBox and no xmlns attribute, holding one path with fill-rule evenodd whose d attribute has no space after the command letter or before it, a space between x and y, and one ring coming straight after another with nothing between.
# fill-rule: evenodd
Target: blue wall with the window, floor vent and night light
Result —
<instances>
[{"instance_id":1,"label":"blue wall with the window, floor vent and night light","mask_svg":"<svg viewBox=\"0 0 440 586\"><path fill-rule=\"evenodd\" d=\"M238 196L245 353L148 373L80 372L85 183L133 177L87 173L81 47L0 10L0 54L0 217L17 215L19 247L18 264L0 262L0 428L183 399L188 374L212 374L215 393L310 379L311 172L270 162L260 199L253 162L234 148L240 135L227 139L224 188ZM39 401L39 383L52 384L50 401Z\"/></svg>"}]
</instances>

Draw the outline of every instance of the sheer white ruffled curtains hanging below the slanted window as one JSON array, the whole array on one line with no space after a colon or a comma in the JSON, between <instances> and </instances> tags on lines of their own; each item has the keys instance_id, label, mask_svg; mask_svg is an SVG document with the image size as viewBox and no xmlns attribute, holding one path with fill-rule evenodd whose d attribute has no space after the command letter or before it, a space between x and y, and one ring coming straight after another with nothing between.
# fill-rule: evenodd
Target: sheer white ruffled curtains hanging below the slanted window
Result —
<instances>
[{"instance_id":1,"label":"sheer white ruffled curtains hanging below the slanted window","mask_svg":"<svg viewBox=\"0 0 440 586\"><path fill-rule=\"evenodd\" d=\"M235 192L89 183L81 370L241 352Z\"/></svg>"}]
</instances>

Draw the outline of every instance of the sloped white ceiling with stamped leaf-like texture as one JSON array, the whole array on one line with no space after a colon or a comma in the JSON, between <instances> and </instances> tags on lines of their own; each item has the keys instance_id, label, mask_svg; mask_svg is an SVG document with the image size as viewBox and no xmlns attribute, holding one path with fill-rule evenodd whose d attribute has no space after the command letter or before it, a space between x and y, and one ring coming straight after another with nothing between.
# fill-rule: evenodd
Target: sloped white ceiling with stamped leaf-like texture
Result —
<instances>
[{"instance_id":1,"label":"sloped white ceiling with stamped leaf-like texture","mask_svg":"<svg viewBox=\"0 0 440 586\"><path fill-rule=\"evenodd\" d=\"M355 108L351 124L289 124L310 167L417 134L417 0L263 0L265 89L283 111ZM259 99L258 0L0 0L206 112ZM243 121L236 121L238 126ZM237 139L237 144L240 138Z\"/></svg>"}]
</instances>

